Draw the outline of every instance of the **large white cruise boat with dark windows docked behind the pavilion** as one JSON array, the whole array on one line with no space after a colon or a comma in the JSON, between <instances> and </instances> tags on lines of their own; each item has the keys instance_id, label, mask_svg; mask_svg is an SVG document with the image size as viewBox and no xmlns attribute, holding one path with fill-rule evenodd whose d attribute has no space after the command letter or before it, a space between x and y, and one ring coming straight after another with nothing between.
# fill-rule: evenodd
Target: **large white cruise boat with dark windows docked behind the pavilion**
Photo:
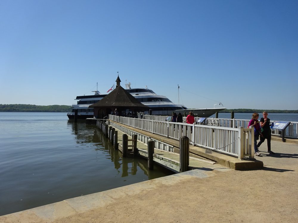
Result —
<instances>
[{"instance_id":1,"label":"large white cruise boat with dark windows docked behind the pavilion","mask_svg":"<svg viewBox=\"0 0 298 223\"><path fill-rule=\"evenodd\" d=\"M172 115L172 112L177 114L181 112L193 112L196 117L209 117L215 112L224 110L225 108L213 108L213 109L187 109L184 105L174 104L170 99L163 95L157 95L153 90L146 88L131 88L131 83L125 84L126 90L134 96L139 102L147 105L152 110L152 115ZM86 119L93 118L93 108L89 108L91 104L101 100L105 95L101 95L99 91L94 91L94 95L77 96L75 100L77 104L72 105L72 112L68 112L69 119L74 119L75 109L78 109L78 118ZM149 111L145 111L145 114L149 114Z\"/></svg>"}]
</instances>

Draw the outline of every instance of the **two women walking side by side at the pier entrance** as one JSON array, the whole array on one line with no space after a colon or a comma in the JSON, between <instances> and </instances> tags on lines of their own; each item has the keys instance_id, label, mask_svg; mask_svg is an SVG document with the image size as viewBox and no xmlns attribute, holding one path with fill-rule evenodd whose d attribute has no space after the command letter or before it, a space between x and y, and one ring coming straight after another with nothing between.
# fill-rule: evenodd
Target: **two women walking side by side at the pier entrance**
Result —
<instances>
[{"instance_id":1,"label":"two women walking side by side at the pier entrance","mask_svg":"<svg viewBox=\"0 0 298 223\"><path fill-rule=\"evenodd\" d=\"M263 112L263 117L258 121L259 114L254 113L252 114L252 119L249 121L248 126L254 127L254 155L260 156L259 147L260 145L267 139L267 148L269 154L274 154L271 151L271 129L270 126L274 124L270 124L270 119L267 117L268 113ZM260 136L260 142L257 143L257 140Z\"/></svg>"}]
</instances>

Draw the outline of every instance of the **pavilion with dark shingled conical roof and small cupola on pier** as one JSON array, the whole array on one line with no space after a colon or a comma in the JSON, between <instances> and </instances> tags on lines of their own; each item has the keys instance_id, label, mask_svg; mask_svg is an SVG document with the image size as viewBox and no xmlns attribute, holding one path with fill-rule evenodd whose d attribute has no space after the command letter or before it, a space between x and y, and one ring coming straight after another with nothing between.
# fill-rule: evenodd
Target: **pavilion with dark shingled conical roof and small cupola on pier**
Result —
<instances>
[{"instance_id":1,"label":"pavilion with dark shingled conical roof and small cupola on pier","mask_svg":"<svg viewBox=\"0 0 298 223\"><path fill-rule=\"evenodd\" d=\"M136 112L149 110L147 105L139 102L134 96L121 87L120 82L118 75L116 88L103 99L89 106L89 108L94 108L95 118L103 119L114 112L115 109L117 109L120 116L125 116L127 113L136 114Z\"/></svg>"}]
</instances>

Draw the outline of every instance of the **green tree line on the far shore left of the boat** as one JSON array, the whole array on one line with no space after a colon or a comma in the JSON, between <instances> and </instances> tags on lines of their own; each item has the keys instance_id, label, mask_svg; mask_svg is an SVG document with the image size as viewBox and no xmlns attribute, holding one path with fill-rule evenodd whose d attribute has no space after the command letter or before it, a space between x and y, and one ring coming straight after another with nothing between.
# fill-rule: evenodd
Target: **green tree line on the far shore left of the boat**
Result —
<instances>
[{"instance_id":1,"label":"green tree line on the far shore left of the boat","mask_svg":"<svg viewBox=\"0 0 298 223\"><path fill-rule=\"evenodd\" d=\"M69 105L0 104L0 112L69 112Z\"/></svg>"}]
</instances>

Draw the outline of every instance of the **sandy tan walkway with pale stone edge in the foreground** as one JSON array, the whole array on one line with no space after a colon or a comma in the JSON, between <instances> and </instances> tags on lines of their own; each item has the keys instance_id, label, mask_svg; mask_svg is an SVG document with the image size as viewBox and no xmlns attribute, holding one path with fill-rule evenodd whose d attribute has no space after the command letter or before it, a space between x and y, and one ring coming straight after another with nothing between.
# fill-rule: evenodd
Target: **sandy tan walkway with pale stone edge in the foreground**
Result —
<instances>
[{"instance_id":1,"label":"sandy tan walkway with pale stone edge in the foreground","mask_svg":"<svg viewBox=\"0 0 298 223\"><path fill-rule=\"evenodd\" d=\"M0 216L0 222L298 222L298 145L259 170L195 169ZM224 171L223 171L224 170Z\"/></svg>"}]
</instances>

